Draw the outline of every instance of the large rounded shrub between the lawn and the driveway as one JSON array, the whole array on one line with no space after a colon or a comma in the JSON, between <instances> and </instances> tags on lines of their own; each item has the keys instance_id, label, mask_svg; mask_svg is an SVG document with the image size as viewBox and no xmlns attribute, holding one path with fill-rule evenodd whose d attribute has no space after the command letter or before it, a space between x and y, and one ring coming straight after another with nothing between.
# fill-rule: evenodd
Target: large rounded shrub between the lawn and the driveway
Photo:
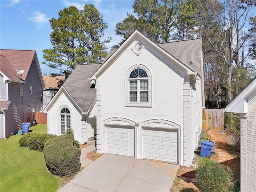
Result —
<instances>
[{"instance_id":1,"label":"large rounded shrub between the lawn and the driveway","mask_svg":"<svg viewBox=\"0 0 256 192\"><path fill-rule=\"evenodd\" d=\"M73 146L73 141L73 134L56 136L46 141L44 159L52 174L66 176L80 170L81 150Z\"/></svg>"}]
</instances>

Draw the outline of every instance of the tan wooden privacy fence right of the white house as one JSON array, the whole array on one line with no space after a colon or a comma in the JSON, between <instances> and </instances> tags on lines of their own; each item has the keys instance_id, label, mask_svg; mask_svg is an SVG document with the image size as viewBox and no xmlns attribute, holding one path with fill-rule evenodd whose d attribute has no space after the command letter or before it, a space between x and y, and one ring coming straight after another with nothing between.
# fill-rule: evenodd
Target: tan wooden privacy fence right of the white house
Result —
<instances>
[{"instance_id":1,"label":"tan wooden privacy fence right of the white house","mask_svg":"<svg viewBox=\"0 0 256 192\"><path fill-rule=\"evenodd\" d=\"M224 112L221 109L203 109L202 120L203 129L224 130Z\"/></svg>"}]
</instances>

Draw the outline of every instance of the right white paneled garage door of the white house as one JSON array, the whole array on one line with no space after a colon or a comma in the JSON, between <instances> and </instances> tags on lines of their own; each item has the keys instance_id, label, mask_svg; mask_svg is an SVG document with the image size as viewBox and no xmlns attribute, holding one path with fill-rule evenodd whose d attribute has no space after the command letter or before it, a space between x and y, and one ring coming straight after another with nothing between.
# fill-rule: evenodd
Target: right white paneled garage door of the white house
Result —
<instances>
[{"instance_id":1,"label":"right white paneled garage door of the white house","mask_svg":"<svg viewBox=\"0 0 256 192\"><path fill-rule=\"evenodd\" d=\"M163 128L143 128L143 158L178 162L178 132Z\"/></svg>"}]
</instances>

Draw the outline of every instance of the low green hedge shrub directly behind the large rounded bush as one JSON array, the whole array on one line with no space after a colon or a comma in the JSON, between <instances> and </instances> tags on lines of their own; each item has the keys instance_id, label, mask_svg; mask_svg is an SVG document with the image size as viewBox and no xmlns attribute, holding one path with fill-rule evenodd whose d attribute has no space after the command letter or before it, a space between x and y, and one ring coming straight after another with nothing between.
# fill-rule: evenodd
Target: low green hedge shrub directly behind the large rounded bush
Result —
<instances>
[{"instance_id":1,"label":"low green hedge shrub directly behind the large rounded bush","mask_svg":"<svg viewBox=\"0 0 256 192\"><path fill-rule=\"evenodd\" d=\"M38 150L38 151L43 151L44 150L44 143L50 139L55 137L56 135L48 135L47 133L43 134L33 134L30 136L28 139L27 146L30 150Z\"/></svg>"}]
</instances>

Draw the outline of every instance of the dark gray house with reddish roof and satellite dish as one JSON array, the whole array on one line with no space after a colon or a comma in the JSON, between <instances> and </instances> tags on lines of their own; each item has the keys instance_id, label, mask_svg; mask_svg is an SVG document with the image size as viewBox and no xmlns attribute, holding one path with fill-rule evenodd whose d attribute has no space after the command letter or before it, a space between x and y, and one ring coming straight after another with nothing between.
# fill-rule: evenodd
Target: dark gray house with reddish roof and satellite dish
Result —
<instances>
[{"instance_id":1,"label":"dark gray house with reddish roof and satellite dish","mask_svg":"<svg viewBox=\"0 0 256 192\"><path fill-rule=\"evenodd\" d=\"M42 110L44 82L32 50L0 50L0 138L22 129L22 122L33 122Z\"/></svg>"}]
</instances>

